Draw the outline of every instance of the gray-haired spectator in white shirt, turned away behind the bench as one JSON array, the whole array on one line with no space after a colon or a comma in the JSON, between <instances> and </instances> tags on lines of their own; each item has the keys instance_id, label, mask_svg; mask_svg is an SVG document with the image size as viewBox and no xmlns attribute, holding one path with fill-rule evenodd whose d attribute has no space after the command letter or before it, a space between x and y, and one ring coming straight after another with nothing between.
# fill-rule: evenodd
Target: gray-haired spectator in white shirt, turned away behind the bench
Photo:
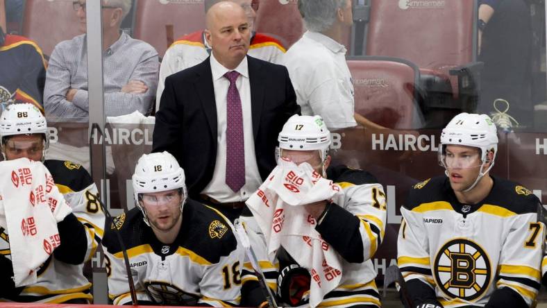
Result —
<instances>
[{"instance_id":1,"label":"gray-haired spectator in white shirt, turned away behind the bench","mask_svg":"<svg viewBox=\"0 0 547 308\"><path fill-rule=\"evenodd\" d=\"M351 0L298 1L308 31L285 54L285 66L302 114L320 115L329 128L357 123L382 128L355 113L353 80L341 44L344 30L353 24L351 9Z\"/></svg>"}]
</instances>

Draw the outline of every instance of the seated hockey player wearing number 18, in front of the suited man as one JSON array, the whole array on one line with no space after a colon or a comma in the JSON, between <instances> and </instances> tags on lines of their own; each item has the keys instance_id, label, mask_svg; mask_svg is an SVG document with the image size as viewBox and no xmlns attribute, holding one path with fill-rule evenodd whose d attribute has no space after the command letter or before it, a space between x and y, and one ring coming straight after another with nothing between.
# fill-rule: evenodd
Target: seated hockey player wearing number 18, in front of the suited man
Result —
<instances>
[{"instance_id":1,"label":"seated hockey player wearing number 18, in front of the suited man","mask_svg":"<svg viewBox=\"0 0 547 308\"><path fill-rule=\"evenodd\" d=\"M141 305L239 304L243 251L237 249L232 225L217 210L187 198L184 171L175 157L142 155L133 191L137 208L118 216L103 241L113 304L131 303L115 228Z\"/></svg>"}]
</instances>

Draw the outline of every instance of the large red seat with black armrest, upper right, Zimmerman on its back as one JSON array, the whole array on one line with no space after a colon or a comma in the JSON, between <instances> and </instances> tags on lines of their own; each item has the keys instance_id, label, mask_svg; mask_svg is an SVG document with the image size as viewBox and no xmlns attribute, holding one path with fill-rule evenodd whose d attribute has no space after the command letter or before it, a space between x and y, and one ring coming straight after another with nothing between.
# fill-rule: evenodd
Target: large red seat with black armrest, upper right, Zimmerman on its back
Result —
<instances>
[{"instance_id":1,"label":"large red seat with black armrest, upper right, Zimmerman on its back","mask_svg":"<svg viewBox=\"0 0 547 308\"><path fill-rule=\"evenodd\" d=\"M365 54L403 58L421 71L420 86L431 112L472 111L480 91L477 59L477 0L370 0ZM450 111L453 110L453 111Z\"/></svg>"}]
</instances>

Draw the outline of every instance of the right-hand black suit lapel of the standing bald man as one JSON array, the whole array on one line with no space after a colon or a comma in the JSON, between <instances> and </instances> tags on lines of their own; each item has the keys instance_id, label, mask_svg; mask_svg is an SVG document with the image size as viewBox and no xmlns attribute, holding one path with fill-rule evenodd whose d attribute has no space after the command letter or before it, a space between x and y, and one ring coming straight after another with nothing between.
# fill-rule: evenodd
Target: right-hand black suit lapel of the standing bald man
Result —
<instances>
[{"instance_id":1,"label":"right-hand black suit lapel of the standing bald man","mask_svg":"<svg viewBox=\"0 0 547 308\"><path fill-rule=\"evenodd\" d=\"M255 58L247 56L249 63L249 84L251 85L251 114L253 117L253 137L256 139L260 126L260 115L264 105L264 87L266 80L260 71L262 65Z\"/></svg>"}]
</instances>

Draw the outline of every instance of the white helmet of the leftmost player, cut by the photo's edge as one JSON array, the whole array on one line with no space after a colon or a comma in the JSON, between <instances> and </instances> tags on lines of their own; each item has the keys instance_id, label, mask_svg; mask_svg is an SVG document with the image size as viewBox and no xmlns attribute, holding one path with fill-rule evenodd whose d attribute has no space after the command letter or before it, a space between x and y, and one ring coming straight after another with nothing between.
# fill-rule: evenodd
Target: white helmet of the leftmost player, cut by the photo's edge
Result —
<instances>
[{"instance_id":1,"label":"white helmet of the leftmost player, cut by the photo's edge","mask_svg":"<svg viewBox=\"0 0 547 308\"><path fill-rule=\"evenodd\" d=\"M0 115L0 142L2 148L6 137L15 135L44 135L44 154L49 148L49 131L42 112L31 103L10 104ZM3 153L3 150L2 150Z\"/></svg>"}]
</instances>

